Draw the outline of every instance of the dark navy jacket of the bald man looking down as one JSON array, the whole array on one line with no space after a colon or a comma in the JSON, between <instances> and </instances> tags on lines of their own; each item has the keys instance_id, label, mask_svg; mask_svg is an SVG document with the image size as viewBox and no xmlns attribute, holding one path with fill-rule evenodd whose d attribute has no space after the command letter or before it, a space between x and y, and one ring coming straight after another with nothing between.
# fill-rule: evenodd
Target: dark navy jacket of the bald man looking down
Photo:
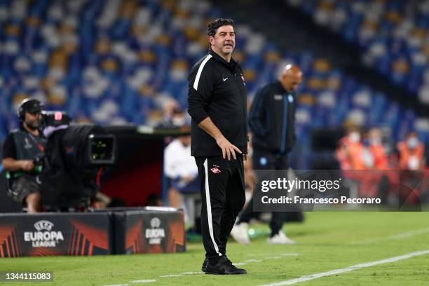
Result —
<instances>
[{"instance_id":1,"label":"dark navy jacket of the bald man looking down","mask_svg":"<svg viewBox=\"0 0 429 286\"><path fill-rule=\"evenodd\" d=\"M280 81L257 91L249 112L252 146L277 154L286 154L295 142L295 94Z\"/></svg>"}]
</instances>

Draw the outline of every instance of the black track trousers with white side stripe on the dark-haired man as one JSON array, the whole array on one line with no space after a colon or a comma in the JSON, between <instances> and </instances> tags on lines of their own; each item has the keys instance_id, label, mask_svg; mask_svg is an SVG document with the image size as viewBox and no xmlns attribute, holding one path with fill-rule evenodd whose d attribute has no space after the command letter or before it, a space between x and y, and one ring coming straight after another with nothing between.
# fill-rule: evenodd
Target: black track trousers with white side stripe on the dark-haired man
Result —
<instances>
[{"instance_id":1,"label":"black track trousers with white side stripe on the dark-haired man","mask_svg":"<svg viewBox=\"0 0 429 286\"><path fill-rule=\"evenodd\" d=\"M226 242L245 203L243 158L236 160L215 157L196 157L200 176L201 233L205 257L217 263L226 254Z\"/></svg>"}]
</instances>

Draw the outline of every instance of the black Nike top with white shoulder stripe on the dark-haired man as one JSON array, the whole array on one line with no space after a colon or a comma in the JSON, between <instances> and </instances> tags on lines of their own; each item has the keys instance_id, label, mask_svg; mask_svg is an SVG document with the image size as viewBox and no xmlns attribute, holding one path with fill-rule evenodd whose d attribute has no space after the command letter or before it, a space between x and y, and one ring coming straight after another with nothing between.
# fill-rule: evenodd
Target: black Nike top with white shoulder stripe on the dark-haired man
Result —
<instances>
[{"instance_id":1,"label":"black Nike top with white shoulder stripe on the dark-haired man","mask_svg":"<svg viewBox=\"0 0 429 286\"><path fill-rule=\"evenodd\" d=\"M189 74L188 112L192 118L191 155L219 156L222 149L198 123L209 116L226 139L247 153L247 91L238 62L209 50Z\"/></svg>"}]
</instances>

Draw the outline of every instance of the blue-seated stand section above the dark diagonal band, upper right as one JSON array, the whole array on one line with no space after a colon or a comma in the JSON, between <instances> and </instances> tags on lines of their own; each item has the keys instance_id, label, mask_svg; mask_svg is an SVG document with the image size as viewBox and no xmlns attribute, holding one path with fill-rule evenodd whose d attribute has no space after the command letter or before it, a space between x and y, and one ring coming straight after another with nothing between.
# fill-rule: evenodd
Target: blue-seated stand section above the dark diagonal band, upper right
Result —
<instances>
[{"instance_id":1,"label":"blue-seated stand section above the dark diagonal band, upper right","mask_svg":"<svg viewBox=\"0 0 429 286\"><path fill-rule=\"evenodd\" d=\"M429 102L429 1L287 0L359 46L362 61Z\"/></svg>"}]
</instances>

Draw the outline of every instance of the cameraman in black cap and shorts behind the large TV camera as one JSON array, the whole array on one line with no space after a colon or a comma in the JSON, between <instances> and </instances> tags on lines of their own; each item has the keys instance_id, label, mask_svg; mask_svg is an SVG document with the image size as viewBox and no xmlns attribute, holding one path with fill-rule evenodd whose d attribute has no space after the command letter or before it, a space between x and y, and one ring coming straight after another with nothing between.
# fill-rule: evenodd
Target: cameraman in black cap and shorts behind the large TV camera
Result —
<instances>
[{"instance_id":1,"label":"cameraman in black cap and shorts behind the large TV camera","mask_svg":"<svg viewBox=\"0 0 429 286\"><path fill-rule=\"evenodd\" d=\"M43 105L39 100L27 98L18 108L20 128L12 130L3 147L3 166L9 171L9 194L17 203L27 207L27 212L40 210L40 184L36 177L41 167L34 162L43 156L46 140L39 130Z\"/></svg>"}]
</instances>

